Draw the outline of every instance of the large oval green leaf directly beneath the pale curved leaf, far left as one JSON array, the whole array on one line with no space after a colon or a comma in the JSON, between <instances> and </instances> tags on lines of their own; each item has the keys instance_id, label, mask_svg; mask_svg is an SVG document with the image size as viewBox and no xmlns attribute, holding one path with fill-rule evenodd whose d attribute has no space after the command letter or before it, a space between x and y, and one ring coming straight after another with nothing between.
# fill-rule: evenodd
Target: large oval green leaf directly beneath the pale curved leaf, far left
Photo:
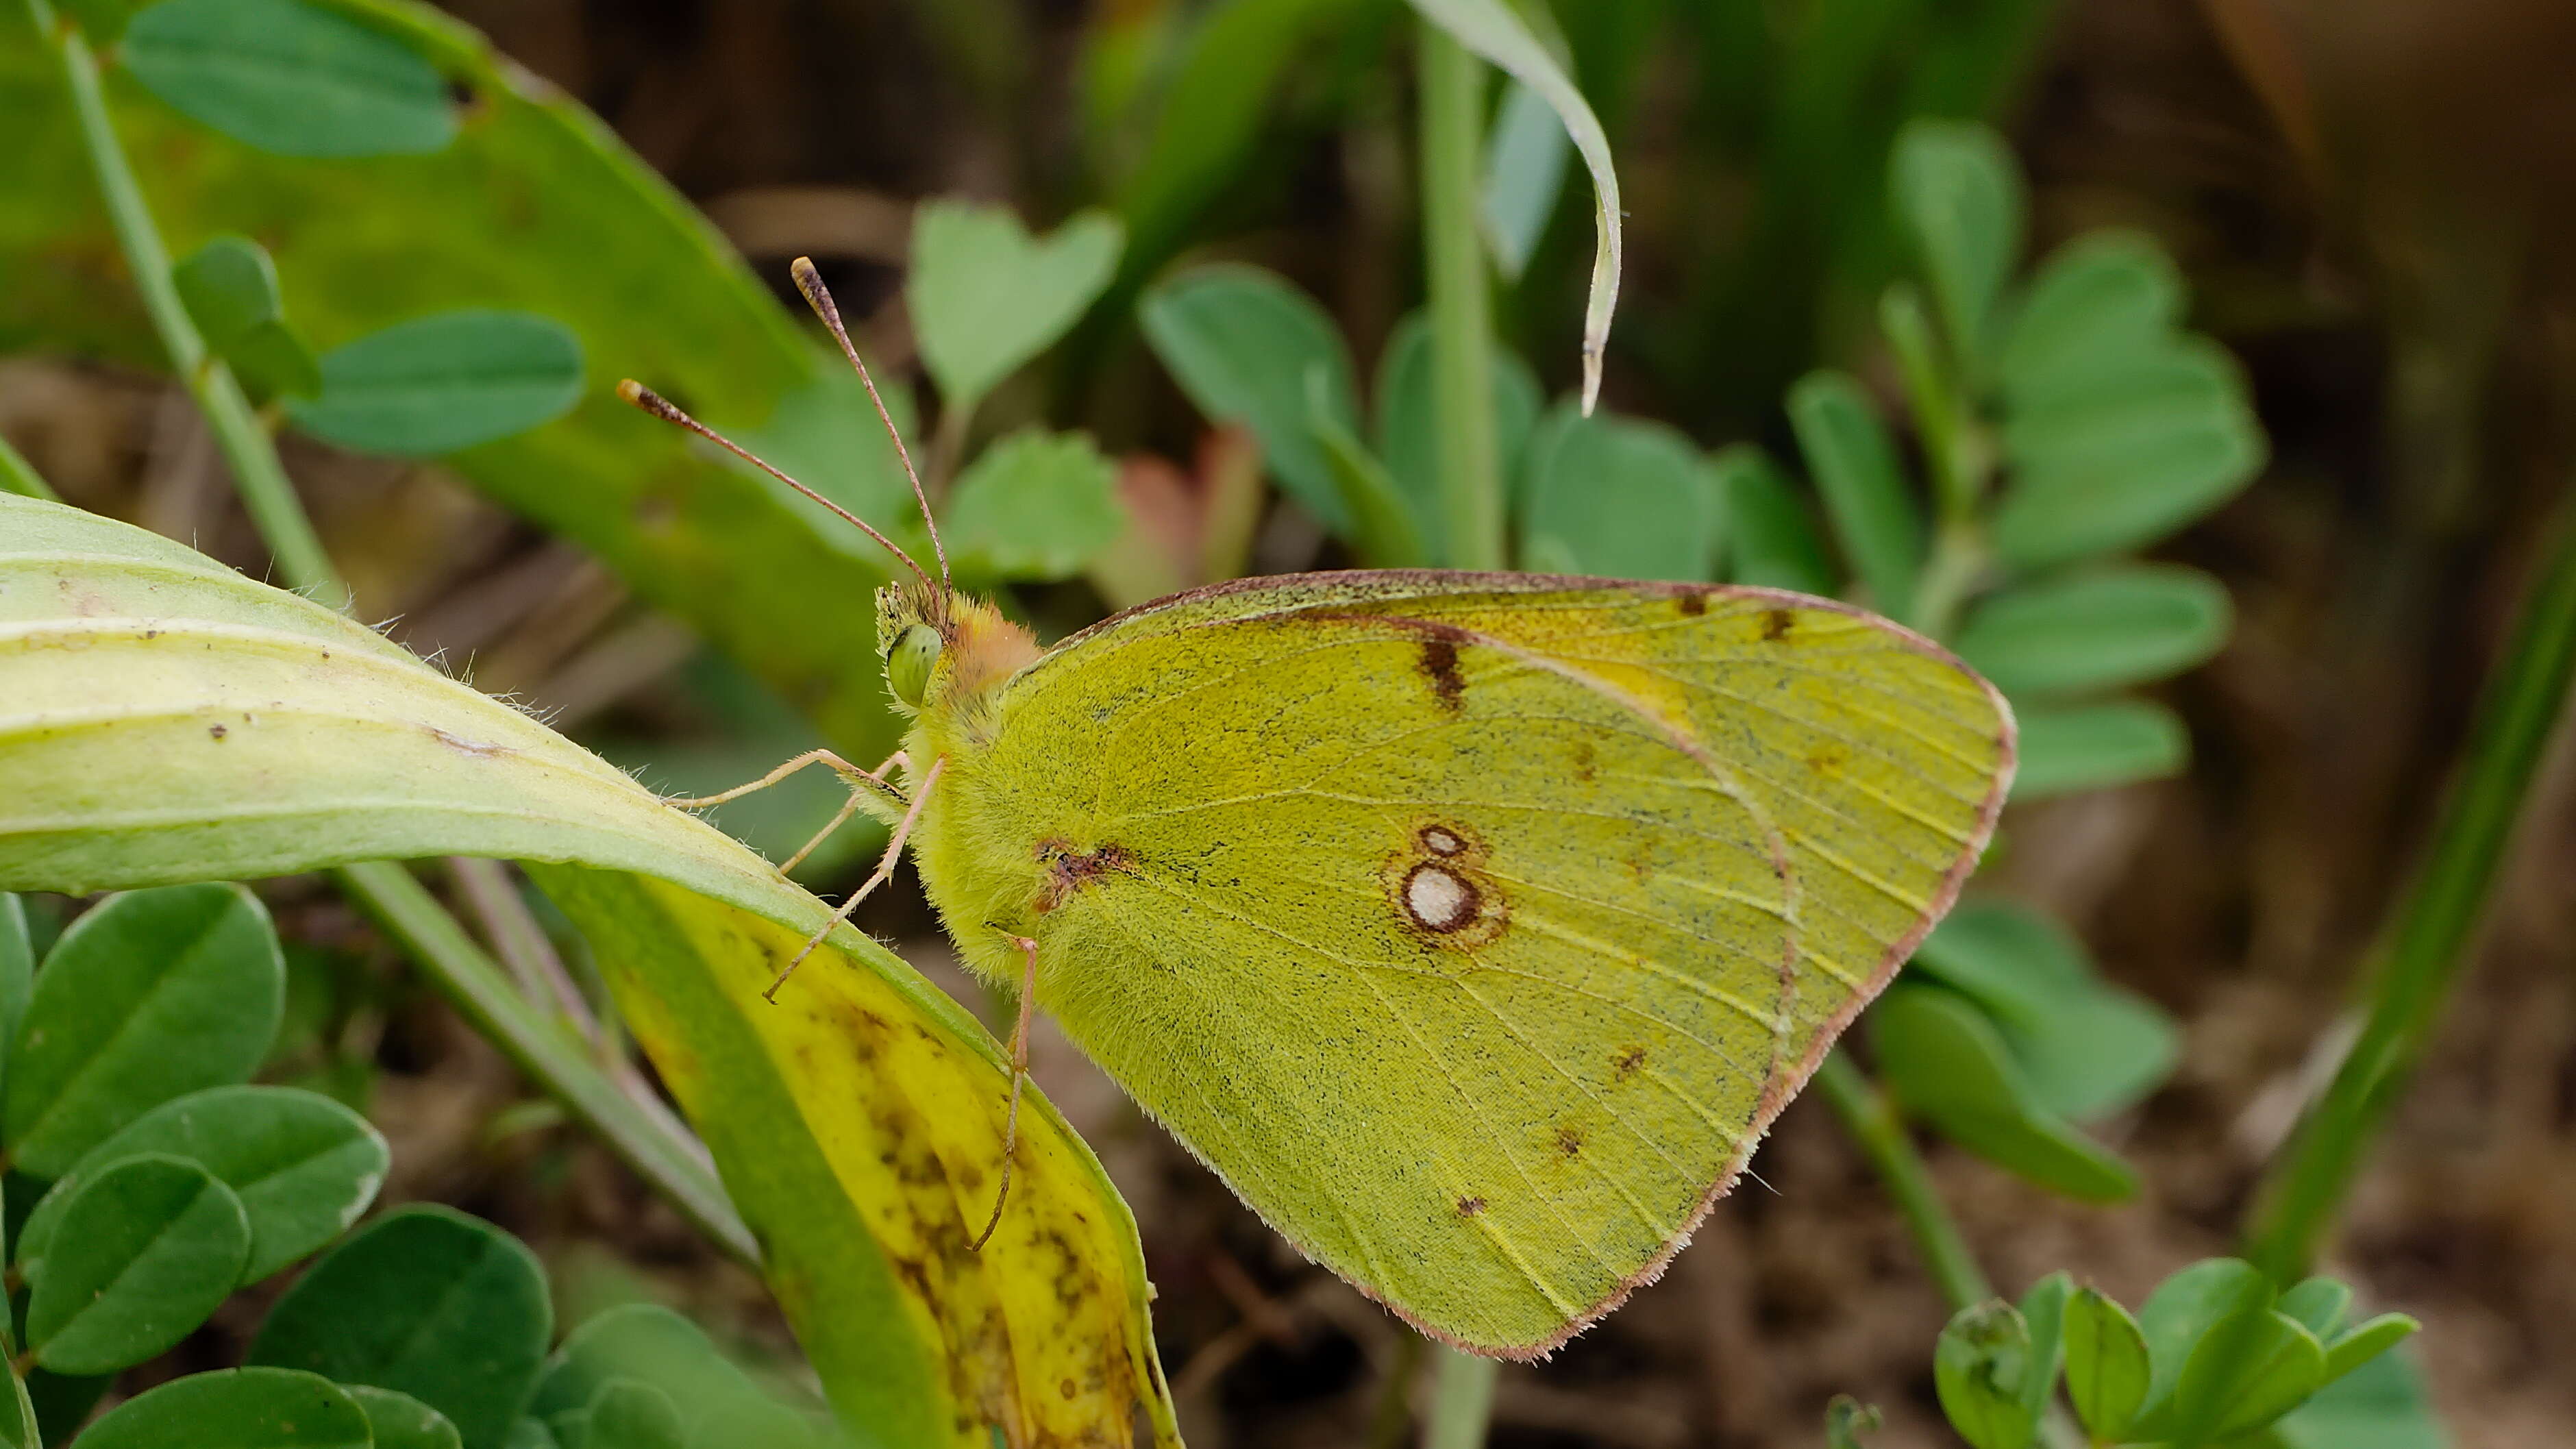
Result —
<instances>
[{"instance_id":1,"label":"large oval green leaf directly beneath the pale curved leaf, far left","mask_svg":"<svg viewBox=\"0 0 2576 1449\"><path fill-rule=\"evenodd\" d=\"M206 730L229 730L211 714ZM129 892L54 944L18 1034L0 1140L59 1178L144 1111L247 1078L286 1011L268 910L237 884Z\"/></svg>"}]
</instances>

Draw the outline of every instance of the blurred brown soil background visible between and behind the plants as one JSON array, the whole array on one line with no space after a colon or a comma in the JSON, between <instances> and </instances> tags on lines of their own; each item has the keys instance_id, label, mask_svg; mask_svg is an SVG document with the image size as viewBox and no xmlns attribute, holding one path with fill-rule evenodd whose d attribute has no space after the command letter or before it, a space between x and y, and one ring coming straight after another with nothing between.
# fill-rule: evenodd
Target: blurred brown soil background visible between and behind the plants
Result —
<instances>
[{"instance_id":1,"label":"blurred brown soil background visible between and behind the plants","mask_svg":"<svg viewBox=\"0 0 2576 1449\"><path fill-rule=\"evenodd\" d=\"M1061 126L1082 18L1064 0L1023 5L1041 62L999 116L940 80L922 8L884 0L451 8L595 106L765 271L832 253L876 304L907 199L1012 196L1038 217L1066 204L1015 186L1030 170L1015 157L1043 160ZM2174 1080L2110 1127L2148 1181L2130 1207L2071 1207L1932 1147L2009 1289L2063 1266L2136 1302L2228 1250L2257 1165L2313 1085L2524 588L2535 526L2566 492L2571 72L2576 23L2545 0L2071 0L2009 113L2038 237L2099 222L2159 232L2192 273L2197 322L2246 358L2275 438L2269 474L2169 549L2226 578L2241 614L2228 652L2169 691L2195 730L2192 773L2022 810L1981 877L2071 920L2110 977L2187 1029ZM1654 108L1623 155L1649 199L1690 186L1669 173ZM1311 157L1291 186L1296 222L1273 219L1247 255L1314 286L1365 358L1417 281L1409 242L1378 245L1363 170L1329 147ZM817 191L788 204L760 191L778 186ZM1651 250L1636 276L1631 307L1651 307ZM899 348L899 317L873 327ZM1692 423L1618 374L1613 400ZM162 384L0 364L0 428L77 503L258 559ZM1185 454L1188 428L1162 397L1139 410L1136 438L1110 441ZM649 706L662 688L675 634L562 544L428 469L309 446L289 467L361 593L386 603L379 614L399 606L415 645L461 642L477 681L574 719ZM2576 1372L2550 1348L2576 1320L2571 784L2561 743L2329 1263L2365 1305L2427 1323L2439 1408L2470 1449L2576 1441ZM384 977L368 1029L374 1111L397 1147L389 1199L446 1199L523 1232L554 1266L567 1320L644 1292L791 1361L757 1281L569 1129L505 1116L526 1088L345 908L296 882L273 900L291 936L374 951ZM871 928L948 969L917 900ZM1298 1261L1061 1039L1041 1042L1038 1080L1144 1227L1190 1441L1365 1441L1406 1364L1396 1325ZM1721 1204L1662 1284L1553 1361L1507 1369L1497 1446L1821 1444L1834 1392L1888 1410L1883 1449L1950 1444L1929 1385L1942 1305L1834 1122L1793 1106L1754 1165L1767 1189ZM250 1310L227 1310L183 1361L234 1361L224 1338Z\"/></svg>"}]
</instances>

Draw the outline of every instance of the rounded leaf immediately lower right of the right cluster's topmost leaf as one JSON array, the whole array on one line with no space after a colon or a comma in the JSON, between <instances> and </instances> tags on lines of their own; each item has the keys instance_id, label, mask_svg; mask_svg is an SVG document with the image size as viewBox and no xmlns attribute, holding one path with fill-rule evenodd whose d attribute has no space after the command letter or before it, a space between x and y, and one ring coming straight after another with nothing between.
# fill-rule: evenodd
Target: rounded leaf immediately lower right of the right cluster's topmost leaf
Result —
<instances>
[{"instance_id":1,"label":"rounded leaf immediately lower right of the right cluster's topmost leaf","mask_svg":"<svg viewBox=\"0 0 2576 1449\"><path fill-rule=\"evenodd\" d=\"M2040 266L2004 333L2007 397L2112 371L2182 320L2182 271L2138 232L2081 235Z\"/></svg>"}]
</instances>

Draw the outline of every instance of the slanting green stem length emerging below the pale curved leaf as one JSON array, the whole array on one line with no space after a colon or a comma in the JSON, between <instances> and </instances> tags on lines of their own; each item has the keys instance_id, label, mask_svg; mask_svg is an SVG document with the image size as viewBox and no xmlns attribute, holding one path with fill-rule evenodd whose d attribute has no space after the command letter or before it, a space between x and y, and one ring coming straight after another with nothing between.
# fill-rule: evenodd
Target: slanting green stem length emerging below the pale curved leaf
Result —
<instances>
[{"instance_id":1,"label":"slanting green stem length emerging below the pale curved leaf","mask_svg":"<svg viewBox=\"0 0 2576 1449\"><path fill-rule=\"evenodd\" d=\"M332 877L384 926L415 962L430 969L446 998L489 1036L531 1080L572 1109L644 1181L654 1183L701 1232L732 1258L757 1269L760 1243L734 1214L714 1168L698 1147L665 1129L582 1060L562 1031L528 1011L507 972L466 936L464 926L412 871L394 861L340 866Z\"/></svg>"}]
</instances>

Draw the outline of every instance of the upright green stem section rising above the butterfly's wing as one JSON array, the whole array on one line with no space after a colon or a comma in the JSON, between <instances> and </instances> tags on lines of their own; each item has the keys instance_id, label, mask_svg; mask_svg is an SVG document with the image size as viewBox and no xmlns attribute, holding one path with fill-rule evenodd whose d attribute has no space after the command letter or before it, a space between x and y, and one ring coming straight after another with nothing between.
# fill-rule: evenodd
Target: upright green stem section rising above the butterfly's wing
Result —
<instances>
[{"instance_id":1,"label":"upright green stem section rising above the butterfly's wing","mask_svg":"<svg viewBox=\"0 0 2576 1449\"><path fill-rule=\"evenodd\" d=\"M1494 299L1476 229L1484 62L1440 26L1419 26L1422 260L1432 304L1432 402L1440 418L1445 554L1504 567L1502 449L1494 441Z\"/></svg>"}]
</instances>

